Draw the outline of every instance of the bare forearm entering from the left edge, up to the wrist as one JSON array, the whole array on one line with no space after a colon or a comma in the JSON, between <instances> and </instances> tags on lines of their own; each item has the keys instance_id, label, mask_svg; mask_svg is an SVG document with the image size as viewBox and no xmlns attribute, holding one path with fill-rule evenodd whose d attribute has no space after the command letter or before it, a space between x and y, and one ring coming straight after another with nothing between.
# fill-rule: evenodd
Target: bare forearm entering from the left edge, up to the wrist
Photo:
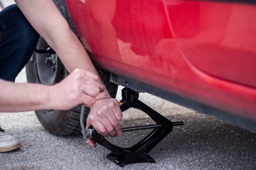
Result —
<instances>
[{"instance_id":1,"label":"bare forearm entering from the left edge, up to the wrist","mask_svg":"<svg viewBox=\"0 0 256 170\"><path fill-rule=\"evenodd\" d=\"M0 112L50 109L48 88L44 85L15 84L0 79Z\"/></svg>"}]
</instances>

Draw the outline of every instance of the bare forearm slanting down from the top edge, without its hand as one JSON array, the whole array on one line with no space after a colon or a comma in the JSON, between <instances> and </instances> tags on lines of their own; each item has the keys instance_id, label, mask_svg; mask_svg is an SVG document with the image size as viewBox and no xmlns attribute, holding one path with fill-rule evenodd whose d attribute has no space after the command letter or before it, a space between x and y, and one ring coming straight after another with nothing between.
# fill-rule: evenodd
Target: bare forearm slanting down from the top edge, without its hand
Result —
<instances>
[{"instance_id":1,"label":"bare forearm slanting down from the top edge, without its hand","mask_svg":"<svg viewBox=\"0 0 256 170\"><path fill-rule=\"evenodd\" d=\"M20 10L38 33L56 51L69 72L81 68L97 74L83 45L70 30L52 0L15 0ZM98 74L97 74L98 75ZM101 84L102 81L99 79ZM105 91L96 99L108 98Z\"/></svg>"}]
</instances>

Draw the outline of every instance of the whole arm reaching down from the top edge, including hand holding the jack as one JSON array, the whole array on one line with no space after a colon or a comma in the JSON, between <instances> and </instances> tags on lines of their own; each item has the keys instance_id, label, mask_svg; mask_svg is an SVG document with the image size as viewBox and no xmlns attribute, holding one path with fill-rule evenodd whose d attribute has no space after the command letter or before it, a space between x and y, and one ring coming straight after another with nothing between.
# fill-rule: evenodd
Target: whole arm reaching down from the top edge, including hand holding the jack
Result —
<instances>
[{"instance_id":1,"label":"whole arm reaching down from the top edge, including hand holding the jack","mask_svg":"<svg viewBox=\"0 0 256 170\"><path fill-rule=\"evenodd\" d=\"M62 17L52 0L15 0L29 23L56 51L69 72L75 68L85 69L97 74L90 57L83 45L70 30L67 21ZM103 85L101 79L99 83ZM111 99L107 89L96 97L88 116L88 125L104 136L121 135L118 120L122 119L122 112L118 102ZM91 146L95 143L89 140Z\"/></svg>"}]
</instances>

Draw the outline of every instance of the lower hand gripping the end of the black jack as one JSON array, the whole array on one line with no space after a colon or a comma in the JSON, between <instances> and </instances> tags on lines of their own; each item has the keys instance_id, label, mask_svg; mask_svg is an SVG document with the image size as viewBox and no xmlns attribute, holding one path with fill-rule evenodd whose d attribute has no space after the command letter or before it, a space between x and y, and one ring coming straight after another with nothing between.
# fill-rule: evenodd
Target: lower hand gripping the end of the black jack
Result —
<instances>
[{"instance_id":1,"label":"lower hand gripping the end of the black jack","mask_svg":"<svg viewBox=\"0 0 256 170\"><path fill-rule=\"evenodd\" d=\"M103 136L121 136L122 130L118 124L121 119L122 111L116 99L99 99L91 107L87 118L87 127L92 125ZM91 139L88 139L87 143L96 147L96 143Z\"/></svg>"}]
</instances>

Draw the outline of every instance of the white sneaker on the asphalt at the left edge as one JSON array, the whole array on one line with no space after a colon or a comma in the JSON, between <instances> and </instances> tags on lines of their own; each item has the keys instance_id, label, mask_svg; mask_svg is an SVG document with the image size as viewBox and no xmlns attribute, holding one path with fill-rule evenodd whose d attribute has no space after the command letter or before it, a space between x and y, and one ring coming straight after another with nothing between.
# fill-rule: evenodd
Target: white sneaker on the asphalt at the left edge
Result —
<instances>
[{"instance_id":1,"label":"white sneaker on the asphalt at the left edge","mask_svg":"<svg viewBox=\"0 0 256 170\"><path fill-rule=\"evenodd\" d=\"M20 142L0 126L0 152L9 152L21 147Z\"/></svg>"}]
</instances>

